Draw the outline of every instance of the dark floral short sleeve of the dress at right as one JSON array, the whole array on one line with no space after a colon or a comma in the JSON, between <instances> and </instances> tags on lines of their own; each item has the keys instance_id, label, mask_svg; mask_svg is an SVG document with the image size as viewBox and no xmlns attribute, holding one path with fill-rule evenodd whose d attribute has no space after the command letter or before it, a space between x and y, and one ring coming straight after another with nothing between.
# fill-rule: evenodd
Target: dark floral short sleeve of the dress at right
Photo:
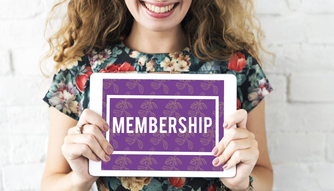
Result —
<instances>
[{"instance_id":1,"label":"dark floral short sleeve of the dress at right","mask_svg":"<svg viewBox=\"0 0 334 191\"><path fill-rule=\"evenodd\" d=\"M237 79L237 109L251 112L274 90L258 60L246 50L236 52L226 69Z\"/></svg>"}]
</instances>

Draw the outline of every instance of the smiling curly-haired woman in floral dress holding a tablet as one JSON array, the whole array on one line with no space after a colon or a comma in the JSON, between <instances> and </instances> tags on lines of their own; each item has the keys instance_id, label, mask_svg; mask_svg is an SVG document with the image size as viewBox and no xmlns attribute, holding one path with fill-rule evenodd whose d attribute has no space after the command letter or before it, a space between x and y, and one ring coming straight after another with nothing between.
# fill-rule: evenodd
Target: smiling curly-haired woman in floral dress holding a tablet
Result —
<instances>
[{"instance_id":1,"label":"smiling curly-haired woman in floral dress holding a tablet","mask_svg":"<svg viewBox=\"0 0 334 191\"><path fill-rule=\"evenodd\" d=\"M254 190L271 190L262 100L273 88L259 64L262 31L253 14L251 0L70 0L68 19L48 40L46 57L56 65L43 98L50 129L41 189L89 190L96 182L99 190L248 190L253 177ZM108 162L116 147L101 132L109 129L104 118L88 109L93 72L236 75L238 110L223 126L239 128L212 149L212 164L237 165L235 177L91 176L88 159Z\"/></svg>"}]
</instances>

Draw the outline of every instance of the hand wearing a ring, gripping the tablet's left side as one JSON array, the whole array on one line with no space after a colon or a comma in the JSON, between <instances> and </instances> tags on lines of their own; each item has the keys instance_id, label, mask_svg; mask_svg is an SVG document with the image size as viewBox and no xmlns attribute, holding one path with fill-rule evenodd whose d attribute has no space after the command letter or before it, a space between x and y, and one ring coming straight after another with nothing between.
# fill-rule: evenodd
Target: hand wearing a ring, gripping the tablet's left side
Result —
<instances>
[{"instance_id":1,"label":"hand wearing a ring, gripping the tablet's left side","mask_svg":"<svg viewBox=\"0 0 334 191\"><path fill-rule=\"evenodd\" d=\"M82 127L82 134L79 134L77 127L82 124L86 125ZM108 130L108 123L90 109L83 110L77 126L68 129L61 151L73 171L73 185L93 184L99 178L89 174L88 159L110 160L114 149L101 132Z\"/></svg>"}]
</instances>

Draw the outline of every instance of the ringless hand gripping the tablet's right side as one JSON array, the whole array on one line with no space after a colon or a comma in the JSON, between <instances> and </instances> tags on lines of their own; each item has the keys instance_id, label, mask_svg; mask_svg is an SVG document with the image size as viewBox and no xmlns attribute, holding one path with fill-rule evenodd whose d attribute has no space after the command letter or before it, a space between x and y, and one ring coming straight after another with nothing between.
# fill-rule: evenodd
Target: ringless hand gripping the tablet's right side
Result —
<instances>
[{"instance_id":1,"label":"ringless hand gripping the tablet's right side","mask_svg":"<svg viewBox=\"0 0 334 191\"><path fill-rule=\"evenodd\" d=\"M239 109L229 115L223 127L229 129L220 142L212 149L216 156L212 164L223 164L224 170L236 165L236 175L232 178L220 178L230 190L246 190L249 186L248 176L251 174L258 158L258 142L255 135L246 129L247 111ZM237 128L231 128L236 124Z\"/></svg>"}]
</instances>

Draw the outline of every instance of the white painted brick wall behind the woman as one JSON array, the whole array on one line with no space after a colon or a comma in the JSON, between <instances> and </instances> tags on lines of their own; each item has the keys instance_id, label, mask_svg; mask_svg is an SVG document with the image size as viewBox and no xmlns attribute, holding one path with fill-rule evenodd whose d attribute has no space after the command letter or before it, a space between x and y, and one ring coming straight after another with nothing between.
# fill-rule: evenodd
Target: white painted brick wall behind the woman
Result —
<instances>
[{"instance_id":1,"label":"white painted brick wall behind the woman","mask_svg":"<svg viewBox=\"0 0 334 191\"><path fill-rule=\"evenodd\" d=\"M48 108L40 82L46 15L56 0L0 0L0 191L39 190ZM274 190L334 190L334 0L258 0ZM14 87L14 89L13 89ZM21 93L17 90L20 89ZM33 115L33 117L31 116Z\"/></svg>"}]
</instances>

